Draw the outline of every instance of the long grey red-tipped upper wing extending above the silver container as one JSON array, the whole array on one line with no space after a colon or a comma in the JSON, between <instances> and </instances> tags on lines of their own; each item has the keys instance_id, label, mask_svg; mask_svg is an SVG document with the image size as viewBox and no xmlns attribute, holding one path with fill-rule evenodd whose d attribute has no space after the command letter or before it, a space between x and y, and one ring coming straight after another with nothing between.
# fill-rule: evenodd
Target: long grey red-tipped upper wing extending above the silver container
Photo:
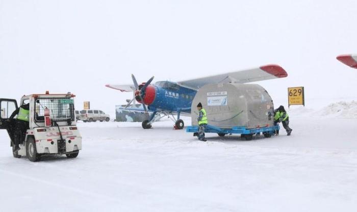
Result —
<instances>
[{"instance_id":1,"label":"long grey red-tipped upper wing extending above the silver container","mask_svg":"<svg viewBox=\"0 0 357 212\"><path fill-rule=\"evenodd\" d=\"M263 80L271 80L274 78L287 77L288 73L278 65L265 65L259 68L248 70L234 71L230 73L218 74L196 78L194 80L181 81L177 84L191 89L199 89L206 84L214 83L250 83Z\"/></svg>"}]
</instances>

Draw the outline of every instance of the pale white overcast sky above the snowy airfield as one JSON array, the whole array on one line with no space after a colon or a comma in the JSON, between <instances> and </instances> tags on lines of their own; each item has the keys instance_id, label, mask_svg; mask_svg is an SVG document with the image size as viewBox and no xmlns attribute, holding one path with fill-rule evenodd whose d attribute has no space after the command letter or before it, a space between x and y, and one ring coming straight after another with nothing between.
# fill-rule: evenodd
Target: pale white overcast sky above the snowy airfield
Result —
<instances>
[{"instance_id":1,"label":"pale white overcast sky above the snowy airfield","mask_svg":"<svg viewBox=\"0 0 357 212\"><path fill-rule=\"evenodd\" d=\"M276 104L293 86L307 104L353 99L357 70L336 56L357 53L356 11L355 0L0 0L1 97L71 91L77 109L114 113L132 94L105 85L131 73L180 81L274 63L289 76L259 84Z\"/></svg>"}]
</instances>

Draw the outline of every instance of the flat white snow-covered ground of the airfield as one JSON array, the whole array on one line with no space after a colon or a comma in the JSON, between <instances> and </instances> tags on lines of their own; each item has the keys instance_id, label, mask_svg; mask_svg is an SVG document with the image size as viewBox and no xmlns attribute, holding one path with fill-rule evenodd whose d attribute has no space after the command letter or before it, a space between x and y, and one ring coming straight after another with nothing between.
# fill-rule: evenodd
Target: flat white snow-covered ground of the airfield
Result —
<instances>
[{"instance_id":1,"label":"flat white snow-covered ground of the airfield","mask_svg":"<svg viewBox=\"0 0 357 212\"><path fill-rule=\"evenodd\" d=\"M79 122L78 158L38 163L13 158L1 130L0 211L355 211L355 106L294 107L292 136L252 141Z\"/></svg>"}]
</instances>

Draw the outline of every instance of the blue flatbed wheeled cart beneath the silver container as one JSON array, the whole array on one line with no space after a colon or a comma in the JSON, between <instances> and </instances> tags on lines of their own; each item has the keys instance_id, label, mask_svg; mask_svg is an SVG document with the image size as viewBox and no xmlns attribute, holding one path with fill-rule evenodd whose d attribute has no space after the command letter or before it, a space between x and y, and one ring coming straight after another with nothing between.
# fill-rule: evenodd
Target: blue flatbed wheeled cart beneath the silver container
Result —
<instances>
[{"instance_id":1,"label":"blue flatbed wheeled cart beneath the silver container","mask_svg":"<svg viewBox=\"0 0 357 212\"><path fill-rule=\"evenodd\" d=\"M222 129L208 124L205 133L216 133L220 137L227 134L240 134L241 138L245 138L245 140L250 141L253 139L254 134L262 133L265 138L270 138L274 134L274 131L279 129L279 126L267 126L252 129L247 129L244 126L235 126L232 127L232 129ZM198 126L188 126L186 128L186 132L193 133L193 135L196 136L198 133Z\"/></svg>"}]
</instances>

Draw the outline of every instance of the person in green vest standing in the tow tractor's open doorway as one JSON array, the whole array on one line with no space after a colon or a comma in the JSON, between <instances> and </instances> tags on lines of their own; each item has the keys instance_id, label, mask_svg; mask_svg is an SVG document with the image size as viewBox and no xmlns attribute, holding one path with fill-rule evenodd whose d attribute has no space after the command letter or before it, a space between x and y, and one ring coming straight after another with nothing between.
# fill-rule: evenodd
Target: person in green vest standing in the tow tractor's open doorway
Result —
<instances>
[{"instance_id":1,"label":"person in green vest standing in the tow tractor's open doorway","mask_svg":"<svg viewBox=\"0 0 357 212\"><path fill-rule=\"evenodd\" d=\"M9 117L9 119L13 119L17 115L16 118L16 128L14 131L14 152L20 150L18 146L20 144L21 135L24 138L26 130L29 128L29 120L30 120L30 104L22 104L19 108L17 108Z\"/></svg>"}]
</instances>

